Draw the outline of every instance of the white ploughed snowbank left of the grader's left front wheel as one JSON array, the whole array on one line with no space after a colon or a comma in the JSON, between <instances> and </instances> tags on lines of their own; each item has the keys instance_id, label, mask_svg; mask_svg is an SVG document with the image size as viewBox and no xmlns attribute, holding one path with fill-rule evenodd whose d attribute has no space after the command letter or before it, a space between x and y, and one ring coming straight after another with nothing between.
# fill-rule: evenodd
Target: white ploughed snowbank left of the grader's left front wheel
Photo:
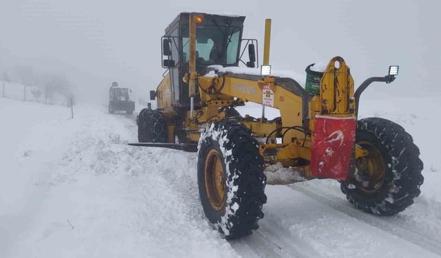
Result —
<instances>
[{"instance_id":1,"label":"white ploughed snowbank left of the grader's left front wheel","mask_svg":"<svg viewBox=\"0 0 441 258\"><path fill-rule=\"evenodd\" d=\"M0 257L237 256L203 218L194 154L129 147L130 116L75 107L0 99Z\"/></svg>"}]
</instances>

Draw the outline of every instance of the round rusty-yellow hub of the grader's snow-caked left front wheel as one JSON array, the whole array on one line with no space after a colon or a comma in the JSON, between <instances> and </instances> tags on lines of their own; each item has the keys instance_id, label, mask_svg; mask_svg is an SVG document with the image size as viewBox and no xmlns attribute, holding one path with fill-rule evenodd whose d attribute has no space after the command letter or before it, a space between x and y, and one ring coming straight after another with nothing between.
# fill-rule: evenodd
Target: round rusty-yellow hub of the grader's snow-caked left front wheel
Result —
<instances>
[{"instance_id":1,"label":"round rusty-yellow hub of the grader's snow-caked left front wheel","mask_svg":"<svg viewBox=\"0 0 441 258\"><path fill-rule=\"evenodd\" d=\"M208 202L212 208L219 211L225 205L226 184L223 159L216 149L208 152L205 159L205 191L207 191Z\"/></svg>"}]
</instances>

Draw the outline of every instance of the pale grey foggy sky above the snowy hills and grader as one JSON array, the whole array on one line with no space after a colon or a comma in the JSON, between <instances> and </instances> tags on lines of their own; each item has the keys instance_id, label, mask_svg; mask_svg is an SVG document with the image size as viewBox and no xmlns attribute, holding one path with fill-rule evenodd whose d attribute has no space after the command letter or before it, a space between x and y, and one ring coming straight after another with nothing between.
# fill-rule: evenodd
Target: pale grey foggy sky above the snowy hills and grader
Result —
<instances>
[{"instance_id":1,"label":"pale grey foggy sky above the snowy hills and grader","mask_svg":"<svg viewBox=\"0 0 441 258\"><path fill-rule=\"evenodd\" d=\"M273 19L274 69L304 72L311 63L342 56L356 85L400 65L396 82L373 85L368 98L441 94L436 0L1 0L0 72L28 65L37 74L64 74L83 102L105 103L114 80L132 88L135 99L147 98L165 71L161 36L183 11L245 15L243 36L258 39L260 51L265 18Z\"/></svg>"}]
</instances>

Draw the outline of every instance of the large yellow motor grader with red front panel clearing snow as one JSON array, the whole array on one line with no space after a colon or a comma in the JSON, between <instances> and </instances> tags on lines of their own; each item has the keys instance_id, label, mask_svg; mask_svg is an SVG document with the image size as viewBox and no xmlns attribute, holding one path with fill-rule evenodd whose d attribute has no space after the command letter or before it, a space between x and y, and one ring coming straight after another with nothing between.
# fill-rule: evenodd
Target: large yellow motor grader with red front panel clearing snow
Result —
<instances>
[{"instance_id":1,"label":"large yellow motor grader with red front panel clearing snow","mask_svg":"<svg viewBox=\"0 0 441 258\"><path fill-rule=\"evenodd\" d=\"M413 204L423 164L412 137L383 118L357 119L360 94L373 82L391 83L398 66L354 92L350 69L337 56L312 94L293 78L271 76L269 19L258 68L258 42L243 39L244 20L183 12L165 29L167 71L150 92L157 109L139 113L139 143L132 145L197 151L203 211L228 239L258 228L271 173L265 168L274 164L296 176L272 183L339 180L347 200L367 213L395 215ZM263 105L263 115L240 116L235 107L247 102ZM265 118L265 106L280 117Z\"/></svg>"}]
</instances>

